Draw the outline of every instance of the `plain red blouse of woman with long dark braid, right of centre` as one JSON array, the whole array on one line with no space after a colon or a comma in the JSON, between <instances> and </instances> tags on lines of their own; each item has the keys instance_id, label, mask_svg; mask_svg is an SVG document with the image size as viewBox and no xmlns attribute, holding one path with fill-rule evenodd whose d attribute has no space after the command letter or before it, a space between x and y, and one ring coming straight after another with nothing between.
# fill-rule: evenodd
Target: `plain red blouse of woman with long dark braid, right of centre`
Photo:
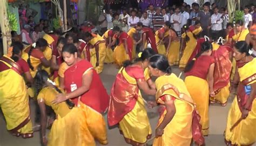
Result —
<instances>
[{"instance_id":1,"label":"plain red blouse of woman with long dark braid, right of centre","mask_svg":"<svg viewBox=\"0 0 256 146\"><path fill-rule=\"evenodd\" d=\"M214 62L215 61L212 56L201 55L194 62L192 69L189 72L185 73L185 75L186 75L186 77L194 76L194 77L198 77L198 78L206 80L207 74L208 74L208 69L210 68L210 66L212 64L214 64Z\"/></svg>"}]
</instances>

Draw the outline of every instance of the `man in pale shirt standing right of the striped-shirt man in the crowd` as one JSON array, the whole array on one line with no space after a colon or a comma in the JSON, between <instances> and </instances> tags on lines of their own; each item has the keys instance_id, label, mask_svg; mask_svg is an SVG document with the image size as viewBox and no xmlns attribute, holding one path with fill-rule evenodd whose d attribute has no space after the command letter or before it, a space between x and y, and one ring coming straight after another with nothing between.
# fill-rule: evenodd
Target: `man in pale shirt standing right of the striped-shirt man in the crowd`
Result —
<instances>
[{"instance_id":1,"label":"man in pale shirt standing right of the striped-shirt man in the crowd","mask_svg":"<svg viewBox=\"0 0 256 146\"><path fill-rule=\"evenodd\" d=\"M178 36L181 37L181 21L182 15L180 13L180 8L175 9L175 13L171 16L171 23L173 24L173 29L178 33Z\"/></svg>"}]
</instances>

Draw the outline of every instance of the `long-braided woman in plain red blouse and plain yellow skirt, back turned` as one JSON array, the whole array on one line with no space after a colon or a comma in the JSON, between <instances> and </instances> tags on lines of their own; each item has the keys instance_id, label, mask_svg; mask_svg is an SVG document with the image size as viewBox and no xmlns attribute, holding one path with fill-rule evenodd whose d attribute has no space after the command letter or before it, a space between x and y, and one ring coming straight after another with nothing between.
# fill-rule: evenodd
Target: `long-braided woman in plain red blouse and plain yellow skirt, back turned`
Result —
<instances>
[{"instance_id":1,"label":"long-braided woman in plain red blouse and plain yellow skirt, back turned","mask_svg":"<svg viewBox=\"0 0 256 146\"><path fill-rule=\"evenodd\" d=\"M184 69L186 75L185 85L194 103L197 105L197 110L201 116L200 124L205 136L208 135L209 129L209 94L214 96L213 71L215 61L211 54L212 44L209 41L205 41L201 45L201 52L188 62Z\"/></svg>"}]
</instances>

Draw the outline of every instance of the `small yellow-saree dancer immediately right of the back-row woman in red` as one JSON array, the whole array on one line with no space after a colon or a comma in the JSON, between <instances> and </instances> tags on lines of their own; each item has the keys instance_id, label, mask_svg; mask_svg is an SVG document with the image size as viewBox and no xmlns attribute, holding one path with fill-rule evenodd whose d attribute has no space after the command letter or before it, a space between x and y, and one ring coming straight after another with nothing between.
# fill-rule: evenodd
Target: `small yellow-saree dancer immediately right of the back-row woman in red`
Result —
<instances>
[{"instance_id":1,"label":"small yellow-saree dancer immediately right of the back-row woman in red","mask_svg":"<svg viewBox=\"0 0 256 146\"><path fill-rule=\"evenodd\" d=\"M161 29L156 31L156 43L158 54L166 55L166 48L164 45L164 38L168 37L168 31L161 27Z\"/></svg>"}]
</instances>

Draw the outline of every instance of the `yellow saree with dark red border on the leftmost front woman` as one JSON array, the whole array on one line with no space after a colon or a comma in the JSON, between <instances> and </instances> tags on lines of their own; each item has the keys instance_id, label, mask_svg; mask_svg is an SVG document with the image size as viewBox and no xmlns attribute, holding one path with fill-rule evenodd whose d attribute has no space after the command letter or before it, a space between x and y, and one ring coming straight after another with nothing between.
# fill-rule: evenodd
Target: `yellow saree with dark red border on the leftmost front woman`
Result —
<instances>
[{"instance_id":1,"label":"yellow saree with dark red border on the leftmost front woman","mask_svg":"<svg viewBox=\"0 0 256 146\"><path fill-rule=\"evenodd\" d=\"M5 117L6 128L16 136L33 137L29 97L24 79L8 62L1 59L0 64L10 67L10 69L0 72L0 107ZM16 63L14 62L14 64Z\"/></svg>"}]
</instances>

